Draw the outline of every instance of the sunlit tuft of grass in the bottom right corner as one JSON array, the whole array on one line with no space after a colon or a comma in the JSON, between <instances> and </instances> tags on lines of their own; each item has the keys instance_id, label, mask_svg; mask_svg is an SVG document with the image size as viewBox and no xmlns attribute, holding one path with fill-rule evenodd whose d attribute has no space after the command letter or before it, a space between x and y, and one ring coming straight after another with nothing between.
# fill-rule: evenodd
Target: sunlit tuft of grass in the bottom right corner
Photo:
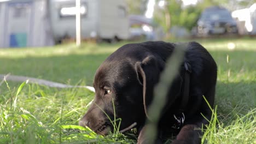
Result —
<instances>
[{"instance_id":1,"label":"sunlit tuft of grass in the bottom right corner","mask_svg":"<svg viewBox=\"0 0 256 144\"><path fill-rule=\"evenodd\" d=\"M207 125L207 129L204 130L205 134L202 136L202 143L249 144L256 142L256 109L248 111L246 115L237 114L234 119L218 119L219 116L216 109L213 110L210 124Z\"/></svg>"}]
</instances>

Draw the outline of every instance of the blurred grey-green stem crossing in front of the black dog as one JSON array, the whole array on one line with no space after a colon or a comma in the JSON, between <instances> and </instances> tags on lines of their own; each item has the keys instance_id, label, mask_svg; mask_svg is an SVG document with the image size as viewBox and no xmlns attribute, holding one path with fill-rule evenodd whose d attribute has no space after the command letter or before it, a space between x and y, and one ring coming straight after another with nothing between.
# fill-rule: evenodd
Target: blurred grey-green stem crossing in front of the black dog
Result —
<instances>
[{"instance_id":1,"label":"blurred grey-green stem crossing in front of the black dog","mask_svg":"<svg viewBox=\"0 0 256 144\"><path fill-rule=\"evenodd\" d=\"M161 111L166 105L166 97L168 90L172 85L172 81L177 76L179 67L183 61L184 51L187 44L179 44L174 49L172 56L168 58L165 70L160 76L159 83L154 88L154 98L149 106L149 120L147 124L146 137L150 142L156 140L158 132L158 122L161 117Z\"/></svg>"}]
</instances>

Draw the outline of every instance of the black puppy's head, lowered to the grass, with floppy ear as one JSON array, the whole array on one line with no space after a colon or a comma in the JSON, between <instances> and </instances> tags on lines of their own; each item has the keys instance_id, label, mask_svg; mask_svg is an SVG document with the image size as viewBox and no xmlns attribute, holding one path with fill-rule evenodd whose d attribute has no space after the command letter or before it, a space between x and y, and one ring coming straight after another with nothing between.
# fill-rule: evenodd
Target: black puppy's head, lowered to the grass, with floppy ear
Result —
<instances>
[{"instance_id":1,"label":"black puppy's head, lowered to the grass, with floppy ear","mask_svg":"<svg viewBox=\"0 0 256 144\"><path fill-rule=\"evenodd\" d=\"M119 130L135 122L144 124L165 62L150 53L139 53L143 52L119 49L101 64L94 79L94 101L79 125L106 135L113 131L114 119L121 119L116 121Z\"/></svg>"}]
</instances>

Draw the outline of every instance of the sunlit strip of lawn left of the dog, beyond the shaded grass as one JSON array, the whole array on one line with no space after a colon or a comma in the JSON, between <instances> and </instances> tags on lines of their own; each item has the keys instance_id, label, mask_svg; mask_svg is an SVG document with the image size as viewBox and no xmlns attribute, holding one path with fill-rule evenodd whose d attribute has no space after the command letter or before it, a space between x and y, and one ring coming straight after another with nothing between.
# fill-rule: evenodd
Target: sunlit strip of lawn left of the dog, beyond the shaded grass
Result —
<instances>
[{"instance_id":1,"label":"sunlit strip of lawn left of the dog, beyond the shaded grass","mask_svg":"<svg viewBox=\"0 0 256 144\"><path fill-rule=\"evenodd\" d=\"M34 48L16 48L16 49L0 49L0 57L6 58L22 58L22 57L50 57L50 56L66 56L66 55L85 55L85 54L101 54L109 53L118 49L121 44L107 45L83 43L80 47L75 44L57 45L52 47L34 47Z\"/></svg>"}]
</instances>

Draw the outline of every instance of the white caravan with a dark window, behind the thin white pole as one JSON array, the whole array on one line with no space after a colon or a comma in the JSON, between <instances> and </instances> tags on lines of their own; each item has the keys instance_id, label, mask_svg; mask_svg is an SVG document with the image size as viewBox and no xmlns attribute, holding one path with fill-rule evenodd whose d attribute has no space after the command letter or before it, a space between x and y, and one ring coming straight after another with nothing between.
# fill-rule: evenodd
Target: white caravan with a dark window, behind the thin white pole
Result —
<instances>
[{"instance_id":1,"label":"white caravan with a dark window, behind the thin white pole","mask_svg":"<svg viewBox=\"0 0 256 144\"><path fill-rule=\"evenodd\" d=\"M75 1L52 0L51 25L55 40L75 38ZM81 0L82 39L129 38L129 18L123 0Z\"/></svg>"}]
</instances>

